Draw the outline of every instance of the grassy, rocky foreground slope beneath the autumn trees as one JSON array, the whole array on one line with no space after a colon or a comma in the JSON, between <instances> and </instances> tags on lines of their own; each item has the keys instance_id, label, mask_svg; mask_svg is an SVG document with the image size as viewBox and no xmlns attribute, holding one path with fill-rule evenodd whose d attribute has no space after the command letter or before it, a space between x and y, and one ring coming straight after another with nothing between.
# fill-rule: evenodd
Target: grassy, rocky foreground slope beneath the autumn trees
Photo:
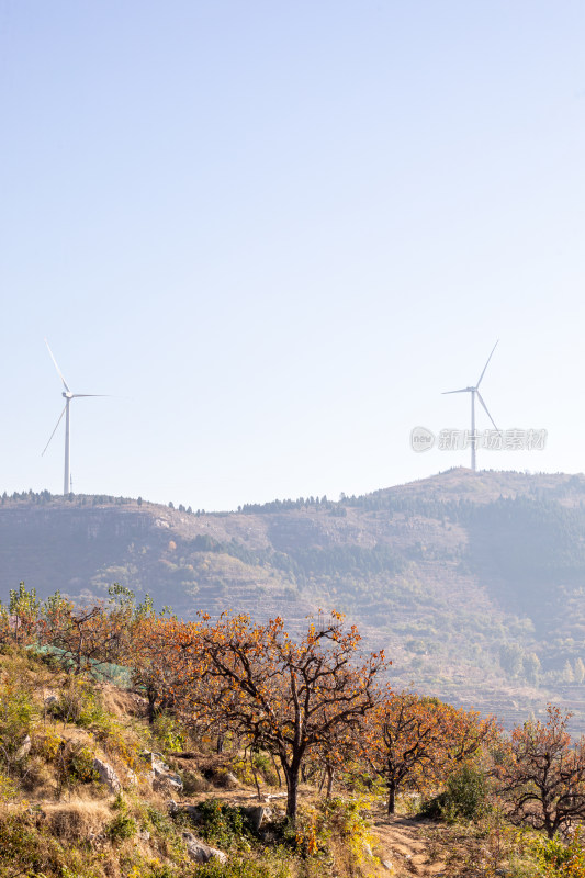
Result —
<instances>
[{"instance_id":1,"label":"grassy, rocky foreground slope beneath the autumn trees","mask_svg":"<svg viewBox=\"0 0 585 878\"><path fill-rule=\"evenodd\" d=\"M540 868L543 836L496 812L415 819L413 789L389 815L383 785L364 786L356 766L333 798L308 766L292 828L277 761L227 739L218 754L172 712L149 724L139 691L2 644L0 878L569 875Z\"/></svg>"}]
</instances>

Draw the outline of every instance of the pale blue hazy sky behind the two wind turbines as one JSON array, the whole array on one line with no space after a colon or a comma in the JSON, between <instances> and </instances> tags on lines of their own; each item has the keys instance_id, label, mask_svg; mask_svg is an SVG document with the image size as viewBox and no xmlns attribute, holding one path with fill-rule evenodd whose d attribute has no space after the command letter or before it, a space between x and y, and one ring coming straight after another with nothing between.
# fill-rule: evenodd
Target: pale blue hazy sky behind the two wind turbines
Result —
<instances>
[{"instance_id":1,"label":"pale blue hazy sky behind the two wind turbines","mask_svg":"<svg viewBox=\"0 0 585 878\"><path fill-rule=\"evenodd\" d=\"M4 488L193 508L585 469L585 4L0 0ZM480 429L491 426L479 415Z\"/></svg>"}]
</instances>

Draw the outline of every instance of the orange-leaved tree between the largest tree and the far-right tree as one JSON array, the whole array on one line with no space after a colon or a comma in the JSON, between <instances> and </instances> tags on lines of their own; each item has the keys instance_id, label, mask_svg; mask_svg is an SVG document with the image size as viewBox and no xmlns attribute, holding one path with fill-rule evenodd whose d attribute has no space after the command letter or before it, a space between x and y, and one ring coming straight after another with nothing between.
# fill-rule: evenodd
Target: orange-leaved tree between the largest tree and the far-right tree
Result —
<instances>
[{"instance_id":1,"label":"orange-leaved tree between the largest tree and the far-right tree","mask_svg":"<svg viewBox=\"0 0 585 878\"><path fill-rule=\"evenodd\" d=\"M362 758L386 785L389 814L394 813L396 793L407 781L421 788L445 779L494 730L492 719L482 720L474 711L386 689L368 718Z\"/></svg>"}]
</instances>

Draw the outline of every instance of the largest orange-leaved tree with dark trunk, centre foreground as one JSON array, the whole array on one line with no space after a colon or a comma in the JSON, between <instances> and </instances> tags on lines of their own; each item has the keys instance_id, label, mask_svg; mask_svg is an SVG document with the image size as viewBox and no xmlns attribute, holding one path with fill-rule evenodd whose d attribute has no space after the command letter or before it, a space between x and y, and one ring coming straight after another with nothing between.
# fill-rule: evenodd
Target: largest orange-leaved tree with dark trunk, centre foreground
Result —
<instances>
[{"instance_id":1,"label":"largest orange-leaved tree with dark trunk, centre foreground","mask_svg":"<svg viewBox=\"0 0 585 878\"><path fill-rule=\"evenodd\" d=\"M360 635L342 617L312 621L295 643L282 619L265 626L222 615L216 624L175 623L176 709L195 722L222 722L255 748L279 759L286 780L286 815L294 823L301 768L307 755L351 727L379 698L383 652L359 655ZM169 644L170 645L170 644Z\"/></svg>"}]
</instances>

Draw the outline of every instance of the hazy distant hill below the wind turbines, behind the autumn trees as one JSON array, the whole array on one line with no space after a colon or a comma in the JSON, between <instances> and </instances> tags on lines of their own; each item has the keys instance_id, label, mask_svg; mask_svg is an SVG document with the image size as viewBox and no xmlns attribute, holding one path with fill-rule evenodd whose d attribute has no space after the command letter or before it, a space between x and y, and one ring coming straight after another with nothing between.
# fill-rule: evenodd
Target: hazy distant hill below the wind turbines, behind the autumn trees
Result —
<instances>
[{"instance_id":1,"label":"hazy distant hill below the wind turbines, behind the autumn trees","mask_svg":"<svg viewBox=\"0 0 585 878\"><path fill-rule=\"evenodd\" d=\"M506 724L548 701L585 732L585 476L457 469L362 497L192 513L100 496L0 498L0 599L106 596L291 627L336 608L410 682Z\"/></svg>"}]
</instances>

